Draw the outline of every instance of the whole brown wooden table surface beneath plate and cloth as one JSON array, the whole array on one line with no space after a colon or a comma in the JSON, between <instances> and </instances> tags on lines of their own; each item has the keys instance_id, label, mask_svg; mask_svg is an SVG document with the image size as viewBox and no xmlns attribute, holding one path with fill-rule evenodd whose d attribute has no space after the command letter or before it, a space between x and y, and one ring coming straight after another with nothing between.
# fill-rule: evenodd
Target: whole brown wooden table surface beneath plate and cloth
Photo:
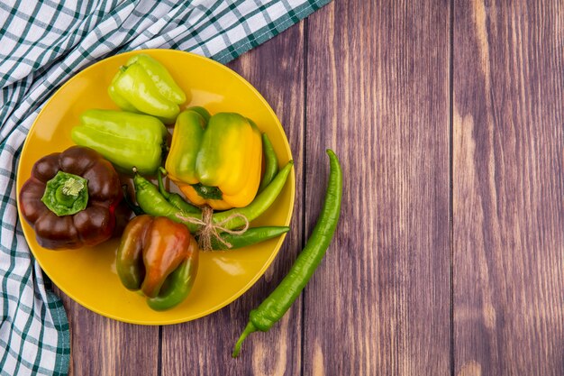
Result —
<instances>
[{"instance_id":1,"label":"whole brown wooden table surface beneath plate and cloth","mask_svg":"<svg viewBox=\"0 0 564 376\"><path fill-rule=\"evenodd\" d=\"M336 0L229 66L296 160L287 241L210 316L134 326L63 296L74 375L564 374L564 3ZM232 360L320 211L305 293Z\"/></svg>"}]
</instances>

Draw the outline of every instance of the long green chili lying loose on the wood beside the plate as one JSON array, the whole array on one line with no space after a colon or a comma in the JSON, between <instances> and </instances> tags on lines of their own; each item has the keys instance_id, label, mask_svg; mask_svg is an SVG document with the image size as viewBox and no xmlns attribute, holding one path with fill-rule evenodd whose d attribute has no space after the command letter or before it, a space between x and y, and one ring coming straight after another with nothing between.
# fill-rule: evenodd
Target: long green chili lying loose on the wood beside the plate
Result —
<instances>
[{"instance_id":1,"label":"long green chili lying loose on the wood beside the plate","mask_svg":"<svg viewBox=\"0 0 564 376\"><path fill-rule=\"evenodd\" d=\"M258 330L268 331L292 306L296 298L314 274L315 268L322 261L323 255L331 243L339 221L342 197L342 171L335 153L328 149L330 161L329 184L321 215L317 219L314 231L305 243L304 250L297 256L294 265L277 288L258 308L250 311L249 324L235 344L232 356L237 357L241 344L247 335Z\"/></svg>"}]
</instances>

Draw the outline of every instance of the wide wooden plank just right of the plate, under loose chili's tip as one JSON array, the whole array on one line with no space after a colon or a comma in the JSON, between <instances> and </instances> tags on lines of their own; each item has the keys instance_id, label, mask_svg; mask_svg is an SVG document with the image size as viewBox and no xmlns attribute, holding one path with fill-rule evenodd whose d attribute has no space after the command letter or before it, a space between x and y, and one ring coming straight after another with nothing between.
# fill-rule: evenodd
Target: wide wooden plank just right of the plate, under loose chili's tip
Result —
<instances>
[{"instance_id":1,"label":"wide wooden plank just right of the plate, under loose chili's tip","mask_svg":"<svg viewBox=\"0 0 564 376\"><path fill-rule=\"evenodd\" d=\"M336 1L307 32L305 234L341 157L341 223L305 289L306 375L450 373L450 2Z\"/></svg>"}]
</instances>

